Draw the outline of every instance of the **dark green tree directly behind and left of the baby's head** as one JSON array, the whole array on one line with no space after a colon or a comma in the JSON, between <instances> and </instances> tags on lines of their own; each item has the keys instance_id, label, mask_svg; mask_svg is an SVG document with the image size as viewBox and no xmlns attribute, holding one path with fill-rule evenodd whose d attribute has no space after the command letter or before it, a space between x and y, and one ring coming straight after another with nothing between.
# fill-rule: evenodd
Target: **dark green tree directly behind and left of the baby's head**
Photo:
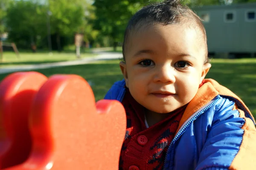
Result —
<instances>
[{"instance_id":1,"label":"dark green tree directly behind and left of the baby's head","mask_svg":"<svg viewBox=\"0 0 256 170\"><path fill-rule=\"evenodd\" d=\"M147 3L149 3L148 0L95 0L93 3L96 7L94 28L102 35L109 35L116 50L118 42L122 41L129 19Z\"/></svg>"}]
</instances>

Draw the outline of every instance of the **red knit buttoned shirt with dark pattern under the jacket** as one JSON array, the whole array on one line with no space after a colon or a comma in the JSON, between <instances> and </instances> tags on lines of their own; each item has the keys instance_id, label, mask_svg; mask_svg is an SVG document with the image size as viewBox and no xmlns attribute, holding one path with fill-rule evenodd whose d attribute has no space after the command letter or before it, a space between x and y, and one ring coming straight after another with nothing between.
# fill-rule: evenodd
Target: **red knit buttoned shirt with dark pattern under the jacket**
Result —
<instances>
[{"instance_id":1,"label":"red knit buttoned shirt with dark pattern under the jacket","mask_svg":"<svg viewBox=\"0 0 256 170\"><path fill-rule=\"evenodd\" d=\"M166 119L147 128L145 108L126 89L122 104L127 127L119 159L119 170L161 170L169 144L177 131L186 105Z\"/></svg>"}]
</instances>

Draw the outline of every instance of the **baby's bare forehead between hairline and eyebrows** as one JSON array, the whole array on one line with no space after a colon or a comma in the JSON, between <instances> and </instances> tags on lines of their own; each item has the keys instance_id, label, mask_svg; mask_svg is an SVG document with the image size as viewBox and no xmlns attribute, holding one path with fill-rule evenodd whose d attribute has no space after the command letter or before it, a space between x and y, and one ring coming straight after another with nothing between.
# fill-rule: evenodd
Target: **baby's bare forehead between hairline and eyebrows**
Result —
<instances>
[{"instance_id":1,"label":"baby's bare forehead between hairline and eyebrows","mask_svg":"<svg viewBox=\"0 0 256 170\"><path fill-rule=\"evenodd\" d=\"M137 51L195 53L204 47L202 33L189 24L155 24L136 30L128 41L128 53ZM204 48L203 48L204 49Z\"/></svg>"}]
</instances>

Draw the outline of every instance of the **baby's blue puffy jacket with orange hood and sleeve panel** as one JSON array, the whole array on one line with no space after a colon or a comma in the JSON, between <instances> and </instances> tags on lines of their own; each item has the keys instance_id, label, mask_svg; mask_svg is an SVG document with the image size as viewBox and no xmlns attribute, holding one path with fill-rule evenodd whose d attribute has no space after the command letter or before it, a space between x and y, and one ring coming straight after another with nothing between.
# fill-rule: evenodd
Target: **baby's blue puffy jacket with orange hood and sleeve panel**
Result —
<instances>
[{"instance_id":1,"label":"baby's blue puffy jacket with orange hood and sleeve panel","mask_svg":"<svg viewBox=\"0 0 256 170\"><path fill-rule=\"evenodd\" d=\"M255 120L230 90L205 79L189 102L165 159L164 170L256 169ZM125 81L105 96L122 102Z\"/></svg>"}]
</instances>

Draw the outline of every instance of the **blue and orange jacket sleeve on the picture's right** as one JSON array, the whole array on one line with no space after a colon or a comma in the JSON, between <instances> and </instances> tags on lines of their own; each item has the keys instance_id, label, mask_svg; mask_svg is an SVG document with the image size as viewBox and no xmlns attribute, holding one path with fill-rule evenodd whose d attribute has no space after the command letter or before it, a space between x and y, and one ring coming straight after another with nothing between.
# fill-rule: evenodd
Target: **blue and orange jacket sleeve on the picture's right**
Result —
<instances>
[{"instance_id":1,"label":"blue and orange jacket sleeve on the picture's right","mask_svg":"<svg viewBox=\"0 0 256 170\"><path fill-rule=\"evenodd\" d=\"M226 99L215 113L196 170L248 170L256 162L256 130L244 111Z\"/></svg>"}]
</instances>

